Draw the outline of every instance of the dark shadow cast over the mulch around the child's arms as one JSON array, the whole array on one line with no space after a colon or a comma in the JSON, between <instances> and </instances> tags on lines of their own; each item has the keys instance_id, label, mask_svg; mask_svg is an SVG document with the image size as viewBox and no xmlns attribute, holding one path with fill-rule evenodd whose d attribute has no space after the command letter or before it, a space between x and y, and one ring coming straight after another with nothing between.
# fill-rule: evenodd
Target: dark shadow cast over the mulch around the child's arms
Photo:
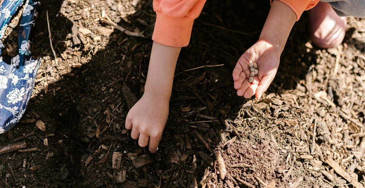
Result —
<instances>
[{"instance_id":1,"label":"dark shadow cast over the mulch around the child's arms","mask_svg":"<svg viewBox=\"0 0 365 188\"><path fill-rule=\"evenodd\" d=\"M70 20L58 14L61 4L61 1L43 2L33 45L36 56L50 55L53 58L47 38L47 9L57 56L65 50L61 44L66 39L65 34L71 33ZM110 158L111 152L115 151L122 152L123 155L132 153L138 156L147 153L153 160L153 164L137 169L132 168L131 156L123 157L122 163L128 169L127 180L137 181L142 178L149 180L149 186L161 183L165 187L187 187L191 184L191 177L198 177L199 181L203 176L207 166L204 157L211 153L200 143L196 132L204 135L214 149L221 141L220 133L225 129L224 120L237 116L241 106L246 103L246 99L235 95L231 71L239 56L257 41L269 11L269 4L262 7L259 3L248 1L239 4L210 1L205 5L203 13L195 21L191 43L181 51L176 73L206 64L223 63L224 66L200 68L175 78L168 125L157 154L149 154L145 148L139 148L137 142L131 140L129 133L123 130L124 117L128 112L122 94L123 82L137 98L142 96L152 46L150 37L155 17L151 11L151 1L142 3L141 7L134 15L128 16L131 23L122 20L118 24L128 26L130 30L138 28L145 33L146 39L130 37L115 30L110 35L107 46L97 51L88 63L65 73L58 81L50 84L47 94L42 91L30 102L28 117L33 116L31 112L37 112L46 123L47 131L42 133L36 129L35 136L26 140L29 148L41 145L42 152L32 156L20 153L15 156L18 160L14 161L22 161L28 155L28 161L33 160L34 165L42 166L35 173L29 172L32 180L28 181L32 181L34 185L112 185L114 181L110 176L113 177L115 171L111 167ZM245 11L241 7L245 7ZM145 20L150 26L135 22L137 18ZM315 53L304 56L307 53L305 43L308 41L305 31L305 20L295 24L281 56L277 76L268 93L295 89L300 80L306 78L311 64L315 63ZM86 55L89 52L83 53ZM54 71L62 70L59 66L69 64L43 64L41 69L47 71L49 66L55 66ZM190 110L185 113L182 109ZM196 114L214 117L218 121L189 124L188 122L207 121ZM97 126L104 130L99 138L95 137ZM19 124L11 134L18 137L19 133L29 132L33 128L34 123ZM52 146L39 144L46 136L50 143L54 143ZM7 135L1 138L1 145L10 142ZM112 146L112 149L96 153L95 150L100 149L100 145L107 148ZM48 151L54 152L55 156L44 160L43 154ZM184 161L192 159L182 159L181 156L191 156L192 153L197 156L197 169L189 174L187 170L190 167ZM100 165L96 161L100 160L102 154L108 154L108 158L107 162ZM84 161L88 156L92 156L95 163L85 168ZM174 161L173 156L180 158ZM7 168L8 157L11 156L1 156L3 168ZM21 164L13 165L19 166ZM16 183L13 186L15 185Z\"/></svg>"}]
</instances>

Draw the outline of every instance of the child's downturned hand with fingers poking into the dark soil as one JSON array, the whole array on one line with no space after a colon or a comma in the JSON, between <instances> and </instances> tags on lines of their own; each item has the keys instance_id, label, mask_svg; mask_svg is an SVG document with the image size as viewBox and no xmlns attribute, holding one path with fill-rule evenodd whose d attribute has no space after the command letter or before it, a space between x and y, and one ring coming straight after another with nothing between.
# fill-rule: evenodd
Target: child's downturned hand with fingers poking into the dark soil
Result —
<instances>
[{"instance_id":1,"label":"child's downturned hand with fingers poking into the dark soil","mask_svg":"<svg viewBox=\"0 0 365 188\"><path fill-rule=\"evenodd\" d=\"M151 94L144 94L129 110L126 118L126 129L132 129L131 137L138 139L138 145L149 145L155 153L161 140L169 115L169 99Z\"/></svg>"}]
</instances>

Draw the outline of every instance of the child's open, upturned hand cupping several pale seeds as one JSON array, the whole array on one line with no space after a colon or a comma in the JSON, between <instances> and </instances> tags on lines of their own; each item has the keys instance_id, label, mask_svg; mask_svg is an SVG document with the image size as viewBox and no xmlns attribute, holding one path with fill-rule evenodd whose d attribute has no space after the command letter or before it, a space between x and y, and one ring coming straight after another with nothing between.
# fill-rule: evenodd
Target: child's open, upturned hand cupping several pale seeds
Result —
<instances>
[{"instance_id":1,"label":"child's open, upturned hand cupping several pale seeds","mask_svg":"<svg viewBox=\"0 0 365 188\"><path fill-rule=\"evenodd\" d=\"M280 52L273 45L264 39L258 40L241 55L233 70L234 88L237 89L237 95L245 98L256 95L256 98L260 99L276 75L279 60ZM257 63L258 69L258 74L253 77L258 81L256 84L249 82L249 64L254 62Z\"/></svg>"}]
</instances>

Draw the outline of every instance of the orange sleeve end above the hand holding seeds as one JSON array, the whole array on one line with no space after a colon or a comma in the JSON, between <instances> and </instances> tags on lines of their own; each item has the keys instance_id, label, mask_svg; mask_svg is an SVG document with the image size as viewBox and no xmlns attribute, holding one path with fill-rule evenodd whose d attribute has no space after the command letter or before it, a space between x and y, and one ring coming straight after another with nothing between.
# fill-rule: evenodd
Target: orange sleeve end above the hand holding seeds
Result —
<instances>
[{"instance_id":1,"label":"orange sleeve end above the hand holding seeds","mask_svg":"<svg viewBox=\"0 0 365 188\"><path fill-rule=\"evenodd\" d=\"M297 21L299 20L301 14L304 11L307 11L311 8L313 8L319 0L279 0L286 5L288 5L293 11L295 12L297 16ZM272 0L270 0L272 2Z\"/></svg>"}]
</instances>

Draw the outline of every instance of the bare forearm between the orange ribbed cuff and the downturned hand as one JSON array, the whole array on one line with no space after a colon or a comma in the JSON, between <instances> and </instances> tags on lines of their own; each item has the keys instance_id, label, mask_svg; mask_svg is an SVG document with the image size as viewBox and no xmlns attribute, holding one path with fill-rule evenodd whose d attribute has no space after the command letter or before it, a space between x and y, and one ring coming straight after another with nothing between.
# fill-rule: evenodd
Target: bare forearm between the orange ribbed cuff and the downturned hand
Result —
<instances>
[{"instance_id":1,"label":"bare forearm between the orange ribbed cuff and the downturned hand","mask_svg":"<svg viewBox=\"0 0 365 188\"><path fill-rule=\"evenodd\" d=\"M145 94L170 99L177 58L181 47L153 42Z\"/></svg>"}]
</instances>

